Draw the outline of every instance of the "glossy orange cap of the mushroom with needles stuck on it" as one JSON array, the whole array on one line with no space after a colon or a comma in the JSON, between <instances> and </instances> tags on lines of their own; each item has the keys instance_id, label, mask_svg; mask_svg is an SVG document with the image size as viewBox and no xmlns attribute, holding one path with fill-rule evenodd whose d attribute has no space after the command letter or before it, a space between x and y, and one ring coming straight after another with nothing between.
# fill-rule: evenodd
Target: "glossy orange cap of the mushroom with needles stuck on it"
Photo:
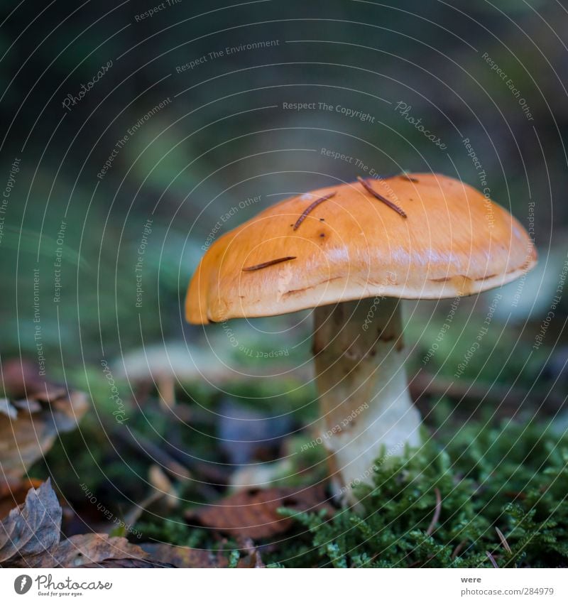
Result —
<instances>
[{"instance_id":1,"label":"glossy orange cap of the mushroom with needles stuck on it","mask_svg":"<svg viewBox=\"0 0 568 603\"><path fill-rule=\"evenodd\" d=\"M537 254L518 220L478 190L408 174L283 200L215 241L185 303L195 324L273 316L347 300L472 295L522 276ZM297 219L312 202L334 192ZM265 268L246 271L271 261Z\"/></svg>"}]
</instances>

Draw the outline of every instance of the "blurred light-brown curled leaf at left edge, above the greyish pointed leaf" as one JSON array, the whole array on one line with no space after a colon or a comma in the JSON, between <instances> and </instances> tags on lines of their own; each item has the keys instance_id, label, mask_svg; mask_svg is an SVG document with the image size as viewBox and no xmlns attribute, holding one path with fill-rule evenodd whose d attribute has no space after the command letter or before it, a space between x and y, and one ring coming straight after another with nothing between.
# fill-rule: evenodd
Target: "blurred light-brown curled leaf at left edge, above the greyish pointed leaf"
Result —
<instances>
[{"instance_id":1,"label":"blurred light-brown curled leaf at left edge, above the greyish pointed leaf","mask_svg":"<svg viewBox=\"0 0 568 603\"><path fill-rule=\"evenodd\" d=\"M89 403L80 391L69 396L28 397L12 401L0 412L0 482L17 486L33 463L52 447L58 433L77 427Z\"/></svg>"}]
</instances>

